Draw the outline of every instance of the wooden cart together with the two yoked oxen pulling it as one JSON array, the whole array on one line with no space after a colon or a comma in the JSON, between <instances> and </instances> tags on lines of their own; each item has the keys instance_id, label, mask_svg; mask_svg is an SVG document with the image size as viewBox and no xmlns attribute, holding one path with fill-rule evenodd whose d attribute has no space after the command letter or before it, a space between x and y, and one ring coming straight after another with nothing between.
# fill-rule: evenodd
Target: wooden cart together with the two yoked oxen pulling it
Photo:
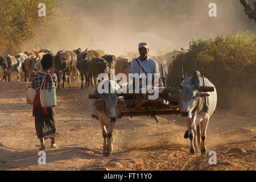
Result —
<instances>
[{"instance_id":1,"label":"wooden cart together with the two yoked oxen pulling it","mask_svg":"<svg viewBox=\"0 0 256 182\"><path fill-rule=\"evenodd\" d=\"M154 118L156 122L158 118L156 115L168 115L168 114L181 114L184 117L187 117L187 125L191 125L188 127L188 130L185 132L184 138L189 138L191 140L191 154L195 154L195 146L196 146L196 138L195 132L197 135L197 144L201 146L201 153L205 154L205 131L207 129L207 123L209 121L210 115L214 112L217 103L217 93L214 90L214 85L210 83L208 79L205 79L203 76L203 82L201 82L200 72L196 71L193 73L192 77L184 79L184 76L181 80L181 88L180 87L170 87L167 85L166 77L164 76L163 67L162 68L162 77L163 86L161 87L154 87L156 91L158 91L155 95L153 92L152 94L146 92L142 92L142 90L146 90L144 88L144 84L142 84L143 80L139 80L139 93L119 93L115 92L115 94L104 93L100 94L100 92L96 92L98 89L98 85L94 88L93 93L89 95L89 99L95 99L93 103L93 113L92 117L99 119L102 127L102 136L104 138L104 155L109 155L111 151L113 151L113 128L114 123L117 118L122 118L124 116L133 117L133 116L140 116L140 115L147 115ZM141 73L141 72L140 72ZM141 75L141 74L139 74ZM183 74L182 74L183 75ZM138 81L138 80L137 80ZM145 81L145 80L144 80ZM189 84L189 82L190 84ZM117 85L114 81L103 80L101 85L111 85L111 82L114 85ZM185 85L183 85L183 82ZM133 82L135 84L135 82ZM142 85L143 88L142 88ZM208 86L206 86L208 85ZM105 85L104 85L105 86ZM150 86L150 84L148 85ZM118 87L118 86L117 86ZM115 88L115 87L111 87ZM181 90L181 91L180 91ZM129 90L131 91L131 90ZM138 91L138 90L136 90ZM152 90L150 90L152 91ZM182 93L182 95L180 94ZM208 94L207 92L213 92L212 95ZM154 95L152 97L150 95ZM118 98L118 96L123 96L123 100ZM186 97L184 97L186 96ZM205 97L211 97L211 100ZM181 100L182 97L182 100ZM188 110L188 101L189 100L192 104L189 105L190 110ZM212 101L212 103L210 103ZM214 102L213 102L214 101ZM182 103L184 102L184 103ZM187 102L187 103L186 103ZM108 104L106 104L108 103ZM120 107L117 107L117 103ZM184 108L183 105L184 104ZM212 107L210 107L213 104ZM111 106L110 106L111 105ZM215 105L215 106L214 106ZM96 107L98 109L96 109ZM110 108L111 107L111 108ZM101 109L99 109L101 108ZM113 111L113 109L118 110ZM192 108L193 108L193 116L192 116ZM110 116L110 110L112 110L112 116ZM201 114L201 117L208 116L208 118L203 119L203 121L197 121L199 123L196 125L196 115ZM108 118L108 119L107 119ZM192 119L193 118L193 119ZM200 117L198 117L198 120ZM203 122L203 125L200 124ZM200 129L202 128L202 133L200 133ZM201 135L202 134L202 135ZM108 138L107 138L108 137ZM202 142L201 142L202 139Z\"/></svg>"}]
</instances>

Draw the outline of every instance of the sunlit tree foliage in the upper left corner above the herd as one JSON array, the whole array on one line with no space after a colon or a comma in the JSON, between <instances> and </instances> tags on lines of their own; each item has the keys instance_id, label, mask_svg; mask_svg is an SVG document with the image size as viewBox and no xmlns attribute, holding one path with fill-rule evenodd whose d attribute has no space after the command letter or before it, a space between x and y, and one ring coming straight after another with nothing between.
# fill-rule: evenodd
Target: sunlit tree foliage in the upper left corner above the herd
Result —
<instances>
[{"instance_id":1,"label":"sunlit tree foliage in the upper left corner above the herd","mask_svg":"<svg viewBox=\"0 0 256 182\"><path fill-rule=\"evenodd\" d=\"M38 16L39 3L46 4L46 17ZM15 54L38 33L54 14L57 0L1 0L0 54Z\"/></svg>"}]
</instances>

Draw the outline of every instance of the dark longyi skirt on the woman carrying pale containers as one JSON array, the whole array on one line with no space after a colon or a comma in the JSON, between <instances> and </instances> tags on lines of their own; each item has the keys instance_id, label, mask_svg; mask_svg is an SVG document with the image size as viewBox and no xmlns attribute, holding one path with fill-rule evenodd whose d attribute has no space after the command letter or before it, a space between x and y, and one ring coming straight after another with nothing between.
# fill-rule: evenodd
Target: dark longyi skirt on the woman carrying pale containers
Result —
<instances>
[{"instance_id":1,"label":"dark longyi skirt on the woman carrying pale containers","mask_svg":"<svg viewBox=\"0 0 256 182\"><path fill-rule=\"evenodd\" d=\"M47 107L47 114L42 115L42 107L35 107L35 128L38 138L54 138L56 135L55 111Z\"/></svg>"}]
</instances>

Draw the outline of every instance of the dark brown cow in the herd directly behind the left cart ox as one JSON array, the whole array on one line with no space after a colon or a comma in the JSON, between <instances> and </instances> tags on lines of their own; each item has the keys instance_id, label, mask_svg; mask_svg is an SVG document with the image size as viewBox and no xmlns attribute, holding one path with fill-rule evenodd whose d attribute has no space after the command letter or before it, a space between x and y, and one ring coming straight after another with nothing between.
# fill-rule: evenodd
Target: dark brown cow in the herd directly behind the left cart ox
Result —
<instances>
[{"instance_id":1,"label":"dark brown cow in the herd directly behind the left cart ox","mask_svg":"<svg viewBox=\"0 0 256 182\"><path fill-rule=\"evenodd\" d=\"M92 61L90 61L90 68L89 68L90 75L94 78L94 84L97 84L97 78L100 73L105 73L109 75L109 63L105 59L101 57L93 57Z\"/></svg>"}]
</instances>

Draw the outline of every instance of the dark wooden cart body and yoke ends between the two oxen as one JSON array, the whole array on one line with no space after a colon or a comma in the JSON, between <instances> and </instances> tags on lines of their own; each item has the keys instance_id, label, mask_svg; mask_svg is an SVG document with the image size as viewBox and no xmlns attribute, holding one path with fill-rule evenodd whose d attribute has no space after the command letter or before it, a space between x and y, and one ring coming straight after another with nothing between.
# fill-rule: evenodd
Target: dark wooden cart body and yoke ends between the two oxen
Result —
<instances>
[{"instance_id":1,"label":"dark wooden cart body and yoke ends between the two oxen","mask_svg":"<svg viewBox=\"0 0 256 182\"><path fill-rule=\"evenodd\" d=\"M163 66L162 76L163 87L159 87L159 96L156 100L149 100L149 93L119 93L117 96L123 96L126 102L126 108L123 108L121 114L118 118L125 116L141 116L148 115L155 118L156 122L158 118L156 115L168 115L168 114L180 114L181 113L181 100L180 100L180 88L179 87L169 87L166 82L166 77L164 77ZM184 79L183 79L184 80ZM141 81L140 81L141 88ZM199 92L213 92L213 86L200 86ZM130 96L130 97L127 97ZM90 94L89 99L100 98L101 94ZM92 115L93 117L93 115Z\"/></svg>"}]
</instances>

